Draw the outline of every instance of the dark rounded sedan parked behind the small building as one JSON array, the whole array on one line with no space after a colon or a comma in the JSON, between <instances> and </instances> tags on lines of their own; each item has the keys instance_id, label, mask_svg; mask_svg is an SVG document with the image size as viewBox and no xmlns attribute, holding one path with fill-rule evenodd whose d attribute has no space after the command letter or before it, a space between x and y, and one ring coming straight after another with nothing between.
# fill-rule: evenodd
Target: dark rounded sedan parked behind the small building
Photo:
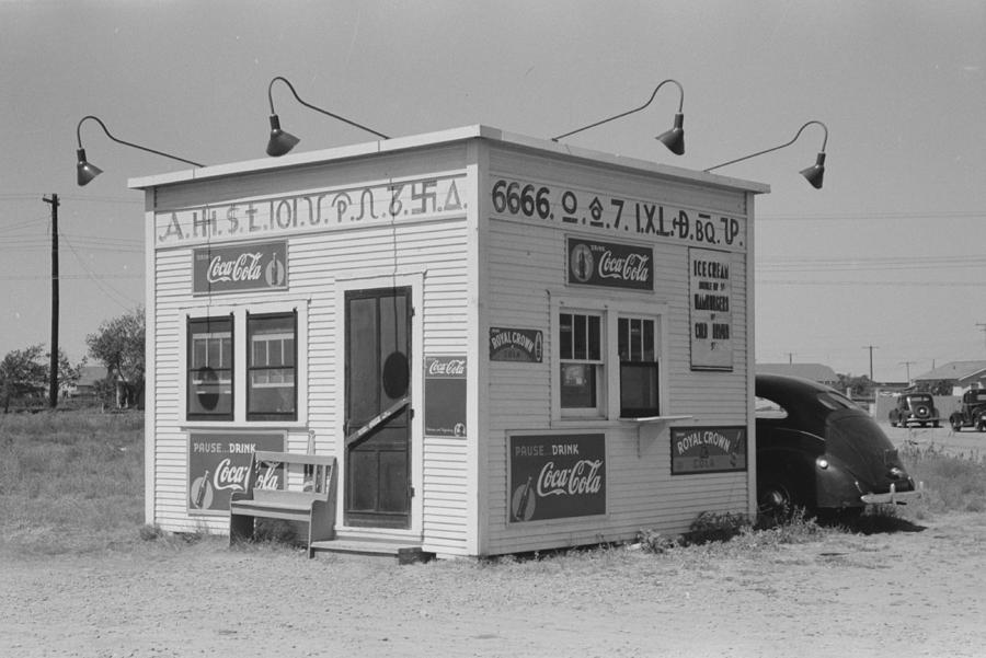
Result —
<instances>
[{"instance_id":1,"label":"dark rounded sedan parked behind the small building","mask_svg":"<svg viewBox=\"0 0 986 658\"><path fill-rule=\"evenodd\" d=\"M763 513L861 511L920 493L870 415L813 381L757 374L757 499Z\"/></svg>"}]
</instances>

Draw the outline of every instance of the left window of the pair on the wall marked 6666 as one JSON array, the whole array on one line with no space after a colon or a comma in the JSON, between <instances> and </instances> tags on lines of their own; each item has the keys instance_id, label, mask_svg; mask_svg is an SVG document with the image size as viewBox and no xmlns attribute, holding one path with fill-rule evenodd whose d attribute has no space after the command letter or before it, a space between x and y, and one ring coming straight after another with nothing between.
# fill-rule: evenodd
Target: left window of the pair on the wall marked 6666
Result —
<instances>
[{"instance_id":1,"label":"left window of the pair on the wall marked 6666","mask_svg":"<svg viewBox=\"0 0 986 658\"><path fill-rule=\"evenodd\" d=\"M570 415L600 415L603 384L603 319L559 315L561 407Z\"/></svg>"}]
</instances>

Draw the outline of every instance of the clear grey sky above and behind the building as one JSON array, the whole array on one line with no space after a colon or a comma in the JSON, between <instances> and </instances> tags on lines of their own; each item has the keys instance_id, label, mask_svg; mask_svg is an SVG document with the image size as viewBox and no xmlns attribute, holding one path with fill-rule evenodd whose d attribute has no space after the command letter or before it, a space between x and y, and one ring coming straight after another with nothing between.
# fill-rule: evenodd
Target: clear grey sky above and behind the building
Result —
<instances>
[{"instance_id":1,"label":"clear grey sky above and behind the building","mask_svg":"<svg viewBox=\"0 0 986 658\"><path fill-rule=\"evenodd\" d=\"M756 358L905 381L986 359L986 2L955 0L0 0L0 355L49 344L57 194L60 331L145 298L142 193L128 180L263 158L267 85L376 131L483 124L766 183L755 219ZM295 152L371 139L275 86Z\"/></svg>"}]
</instances>

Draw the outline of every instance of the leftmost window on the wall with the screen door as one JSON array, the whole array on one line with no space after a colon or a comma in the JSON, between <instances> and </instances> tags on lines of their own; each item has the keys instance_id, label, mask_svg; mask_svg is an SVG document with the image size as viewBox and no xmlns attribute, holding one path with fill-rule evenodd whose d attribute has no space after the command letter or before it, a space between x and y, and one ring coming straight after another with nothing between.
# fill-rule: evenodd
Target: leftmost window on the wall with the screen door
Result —
<instances>
[{"instance_id":1,"label":"leftmost window on the wall with the screen door","mask_svg":"<svg viewBox=\"0 0 986 658\"><path fill-rule=\"evenodd\" d=\"M232 420L232 316L188 320L187 414L196 420Z\"/></svg>"}]
</instances>

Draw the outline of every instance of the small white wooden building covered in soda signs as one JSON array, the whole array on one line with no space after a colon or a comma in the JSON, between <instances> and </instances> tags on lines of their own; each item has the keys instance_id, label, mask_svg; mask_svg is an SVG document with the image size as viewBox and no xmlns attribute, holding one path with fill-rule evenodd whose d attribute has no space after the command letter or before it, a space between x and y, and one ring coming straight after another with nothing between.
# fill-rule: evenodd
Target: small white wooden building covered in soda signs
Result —
<instances>
[{"instance_id":1,"label":"small white wooden building covered in soda signs","mask_svg":"<svg viewBox=\"0 0 986 658\"><path fill-rule=\"evenodd\" d=\"M255 449L340 541L439 556L755 510L766 185L483 126L138 178L148 523L226 532Z\"/></svg>"}]
</instances>

